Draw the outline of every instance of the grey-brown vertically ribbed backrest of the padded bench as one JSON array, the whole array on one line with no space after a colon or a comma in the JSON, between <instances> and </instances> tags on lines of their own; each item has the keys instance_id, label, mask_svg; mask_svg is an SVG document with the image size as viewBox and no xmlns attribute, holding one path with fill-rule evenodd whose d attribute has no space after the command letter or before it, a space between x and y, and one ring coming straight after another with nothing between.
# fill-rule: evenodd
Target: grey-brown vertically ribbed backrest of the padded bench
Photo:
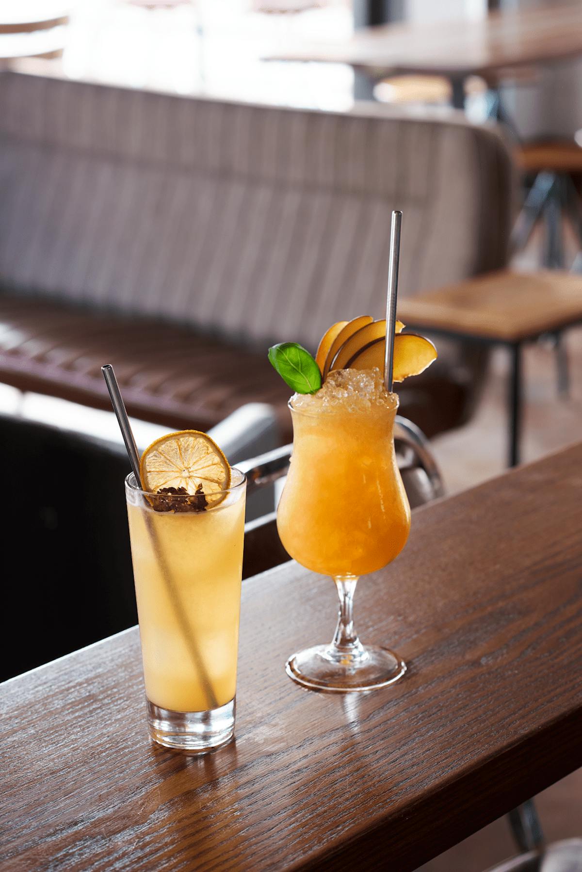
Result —
<instances>
[{"instance_id":1,"label":"grey-brown vertically ribbed backrest of the padded bench","mask_svg":"<svg viewBox=\"0 0 582 872\"><path fill-rule=\"evenodd\" d=\"M313 346L401 293L506 261L502 141L462 120L0 75L0 287Z\"/></svg>"}]
</instances>

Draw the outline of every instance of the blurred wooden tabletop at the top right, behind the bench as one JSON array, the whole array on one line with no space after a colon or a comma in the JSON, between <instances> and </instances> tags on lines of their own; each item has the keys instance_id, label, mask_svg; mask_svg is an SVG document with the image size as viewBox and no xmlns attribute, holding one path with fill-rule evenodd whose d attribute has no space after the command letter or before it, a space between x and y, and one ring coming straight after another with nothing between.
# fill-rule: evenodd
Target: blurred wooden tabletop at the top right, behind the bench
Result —
<instances>
[{"instance_id":1,"label":"blurred wooden tabletop at the top right, behind the bench","mask_svg":"<svg viewBox=\"0 0 582 872\"><path fill-rule=\"evenodd\" d=\"M399 72L446 76L453 105L462 108L471 75L490 78L580 54L582 3L548 2L478 19L367 27L341 42L304 42L268 59L349 64L375 81Z\"/></svg>"}]
</instances>

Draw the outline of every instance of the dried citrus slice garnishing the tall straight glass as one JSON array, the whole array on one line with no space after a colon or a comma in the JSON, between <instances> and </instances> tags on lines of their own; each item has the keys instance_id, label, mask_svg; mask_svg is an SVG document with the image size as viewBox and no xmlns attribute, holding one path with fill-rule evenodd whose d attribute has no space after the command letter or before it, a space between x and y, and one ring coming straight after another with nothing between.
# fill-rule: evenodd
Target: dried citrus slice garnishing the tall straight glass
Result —
<instances>
[{"instance_id":1,"label":"dried citrus slice garnishing the tall straight glass","mask_svg":"<svg viewBox=\"0 0 582 872\"><path fill-rule=\"evenodd\" d=\"M223 491L230 487L229 461L214 439L199 430L168 433L152 442L141 455L140 476L150 494L162 487L184 487L195 494L202 485L212 506L223 501Z\"/></svg>"}]
</instances>

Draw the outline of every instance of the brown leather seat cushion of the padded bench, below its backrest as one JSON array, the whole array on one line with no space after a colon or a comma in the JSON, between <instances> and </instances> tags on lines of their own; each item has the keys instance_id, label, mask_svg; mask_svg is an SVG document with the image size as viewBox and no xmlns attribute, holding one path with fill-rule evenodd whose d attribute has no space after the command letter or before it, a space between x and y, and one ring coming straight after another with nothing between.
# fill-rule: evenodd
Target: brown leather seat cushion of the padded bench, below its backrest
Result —
<instances>
[{"instance_id":1,"label":"brown leather seat cushion of the padded bench, below its backrest","mask_svg":"<svg viewBox=\"0 0 582 872\"><path fill-rule=\"evenodd\" d=\"M291 441L289 388L267 348L250 350L176 324L67 305L46 296L0 294L0 381L110 409L101 366L111 363L127 411L175 429L208 430L240 405L277 408ZM436 370L436 366L435 366ZM470 377L431 373L397 386L401 414L428 436L462 423Z\"/></svg>"}]
</instances>

